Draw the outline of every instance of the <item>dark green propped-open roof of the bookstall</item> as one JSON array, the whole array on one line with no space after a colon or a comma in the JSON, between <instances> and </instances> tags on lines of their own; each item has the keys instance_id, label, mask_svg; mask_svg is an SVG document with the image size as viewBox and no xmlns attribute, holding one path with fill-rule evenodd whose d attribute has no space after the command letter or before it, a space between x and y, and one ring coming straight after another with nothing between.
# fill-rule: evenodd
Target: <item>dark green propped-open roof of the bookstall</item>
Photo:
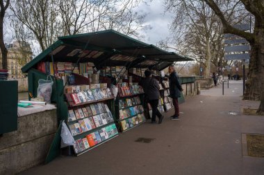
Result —
<instances>
[{"instance_id":1,"label":"dark green propped-open roof of the bookstall","mask_svg":"<svg viewBox=\"0 0 264 175\"><path fill-rule=\"evenodd\" d=\"M57 42L28 62L22 68L22 72L27 72L38 62L51 62L51 55L54 62L77 62L79 60L80 62L94 62L95 66L99 67L127 66L129 62L132 67L137 67L142 66L140 63L146 60L154 60L153 64L192 60L140 42L115 30L103 30L58 37ZM149 67L149 65L145 66Z\"/></svg>"}]
</instances>

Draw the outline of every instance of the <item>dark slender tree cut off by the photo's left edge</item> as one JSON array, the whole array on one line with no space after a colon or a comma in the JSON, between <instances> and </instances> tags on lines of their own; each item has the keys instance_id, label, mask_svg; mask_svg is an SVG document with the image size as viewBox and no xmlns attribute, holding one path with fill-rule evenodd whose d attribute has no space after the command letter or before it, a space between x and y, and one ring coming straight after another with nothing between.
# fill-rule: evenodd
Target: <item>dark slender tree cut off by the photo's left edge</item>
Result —
<instances>
[{"instance_id":1,"label":"dark slender tree cut off by the photo's left edge","mask_svg":"<svg viewBox=\"0 0 264 175\"><path fill-rule=\"evenodd\" d=\"M2 68L4 69L8 69L8 50L3 42L3 19L6 15L6 10L8 9L9 4L10 0L0 0L0 48L2 53Z\"/></svg>"}]
</instances>

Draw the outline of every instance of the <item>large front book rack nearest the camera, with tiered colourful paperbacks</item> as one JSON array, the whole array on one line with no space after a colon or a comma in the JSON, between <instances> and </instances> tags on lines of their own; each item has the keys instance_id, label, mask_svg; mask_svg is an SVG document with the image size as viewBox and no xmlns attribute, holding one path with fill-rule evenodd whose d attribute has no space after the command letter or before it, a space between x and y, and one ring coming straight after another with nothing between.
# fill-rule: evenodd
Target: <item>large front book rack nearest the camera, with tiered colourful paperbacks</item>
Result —
<instances>
[{"instance_id":1,"label":"large front book rack nearest the camera, with tiered colourful paperbacks","mask_svg":"<svg viewBox=\"0 0 264 175\"><path fill-rule=\"evenodd\" d=\"M114 100L110 89L88 89L88 85L66 86L65 92L67 126L74 137L77 156L118 135L115 118L108 107Z\"/></svg>"}]
</instances>

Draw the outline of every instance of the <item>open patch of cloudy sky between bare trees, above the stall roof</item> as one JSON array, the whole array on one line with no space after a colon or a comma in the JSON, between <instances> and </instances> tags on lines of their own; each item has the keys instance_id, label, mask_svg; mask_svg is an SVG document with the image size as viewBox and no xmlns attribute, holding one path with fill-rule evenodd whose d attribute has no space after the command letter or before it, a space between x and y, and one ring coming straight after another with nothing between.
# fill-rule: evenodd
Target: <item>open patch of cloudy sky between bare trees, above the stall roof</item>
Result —
<instances>
[{"instance_id":1,"label":"open patch of cloudy sky between bare trees, above the stall roof","mask_svg":"<svg viewBox=\"0 0 264 175\"><path fill-rule=\"evenodd\" d=\"M137 10L147 13L145 23L151 26L150 30L144 32L145 38L140 39L147 44L156 44L161 39L169 36L168 25L172 21L172 14L165 12L162 0L154 0L150 3L142 3Z\"/></svg>"}]
</instances>

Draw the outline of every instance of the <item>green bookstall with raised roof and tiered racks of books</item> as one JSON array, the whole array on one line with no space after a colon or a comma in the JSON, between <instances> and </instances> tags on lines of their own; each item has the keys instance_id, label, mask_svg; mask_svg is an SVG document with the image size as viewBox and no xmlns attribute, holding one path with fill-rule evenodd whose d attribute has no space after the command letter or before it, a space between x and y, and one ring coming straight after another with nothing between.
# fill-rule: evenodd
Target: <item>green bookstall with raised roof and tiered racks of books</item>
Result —
<instances>
[{"instance_id":1,"label":"green bookstall with raised roof and tiered racks of books","mask_svg":"<svg viewBox=\"0 0 264 175\"><path fill-rule=\"evenodd\" d=\"M172 64L172 62L160 60L160 57L165 55L175 57L175 53L160 50L114 30L104 30L59 37L57 42L26 64L22 72L28 73L28 92L33 97L37 96L38 80L47 79L47 75L51 75L54 82L51 102L56 103L60 126L46 163L60 154L60 128L63 120L76 140L73 147L76 155L83 154L118 135L119 125L116 127L114 124L120 124L122 121L119 120L119 112L116 113L115 108L118 106L120 109L120 107L119 103L115 106L115 97L109 88L110 84L118 85L119 79L124 77L123 72L120 71L114 78L102 76L100 78L102 84L99 84L94 78L98 76L98 74L93 74L94 68L103 70L106 66L110 68L111 66L123 66L126 70L150 67L160 71ZM110 70L110 73L112 72ZM128 78L126 81L129 82ZM136 84L131 86L134 88L134 91L130 89L133 94L119 93L117 99L143 95ZM138 99L142 97L135 97L136 103L131 106L140 106L142 100ZM134 110L134 116L143 112L142 107L138 107ZM131 124L137 125L145 120L141 115L141 118L135 120L134 116L128 118Z\"/></svg>"}]
</instances>

